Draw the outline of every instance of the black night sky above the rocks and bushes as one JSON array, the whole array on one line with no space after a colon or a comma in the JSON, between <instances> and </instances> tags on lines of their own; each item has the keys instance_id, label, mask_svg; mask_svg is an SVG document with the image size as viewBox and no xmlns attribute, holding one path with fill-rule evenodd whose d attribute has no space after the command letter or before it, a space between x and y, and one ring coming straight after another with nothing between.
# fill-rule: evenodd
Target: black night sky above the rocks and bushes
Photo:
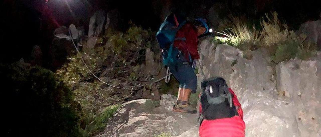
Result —
<instances>
[{"instance_id":1,"label":"black night sky above the rocks and bushes","mask_svg":"<svg viewBox=\"0 0 321 137\"><path fill-rule=\"evenodd\" d=\"M171 11L188 17L207 17L210 8L220 19L229 15L259 20L265 13L276 11L290 29L297 29L307 20L317 20L320 0L4 0L0 12L1 62L30 58L34 45L39 45L44 62L50 61L49 46L53 31L59 26L83 26L88 30L89 19L100 9L119 13L119 25L124 31L132 21L143 28L157 30ZM112 20L111 20L112 21ZM49 68L49 66L44 66Z\"/></svg>"}]
</instances>

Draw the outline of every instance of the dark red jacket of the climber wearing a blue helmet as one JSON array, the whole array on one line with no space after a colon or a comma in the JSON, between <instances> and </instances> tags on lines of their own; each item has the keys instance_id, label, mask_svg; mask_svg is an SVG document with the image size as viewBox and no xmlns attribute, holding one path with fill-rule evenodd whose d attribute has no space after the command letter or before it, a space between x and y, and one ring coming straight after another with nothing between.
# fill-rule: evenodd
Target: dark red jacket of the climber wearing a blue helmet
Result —
<instances>
[{"instance_id":1,"label":"dark red jacket of the climber wearing a blue helmet","mask_svg":"<svg viewBox=\"0 0 321 137\"><path fill-rule=\"evenodd\" d=\"M175 38L174 46L185 54L187 60L189 60L188 53L191 55L192 59L199 59L200 56L197 51L197 29L191 22L187 22L180 28L177 31ZM185 38L186 40L181 40L181 38Z\"/></svg>"}]
</instances>

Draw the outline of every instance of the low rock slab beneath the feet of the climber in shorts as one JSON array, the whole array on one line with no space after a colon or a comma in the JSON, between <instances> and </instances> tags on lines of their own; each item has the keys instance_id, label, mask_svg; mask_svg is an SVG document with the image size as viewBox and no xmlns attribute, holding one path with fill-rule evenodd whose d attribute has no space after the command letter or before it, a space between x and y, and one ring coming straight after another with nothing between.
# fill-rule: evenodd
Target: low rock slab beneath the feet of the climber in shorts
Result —
<instances>
[{"instance_id":1,"label":"low rock slab beneath the feet of the climber in shorts","mask_svg":"<svg viewBox=\"0 0 321 137\"><path fill-rule=\"evenodd\" d=\"M197 137L197 130L192 132L193 129L197 129L196 115L171 111L175 101L174 96L163 94L161 101L140 99L126 102L114 115L105 131L97 136L147 137L160 133L177 136L184 133Z\"/></svg>"}]
</instances>

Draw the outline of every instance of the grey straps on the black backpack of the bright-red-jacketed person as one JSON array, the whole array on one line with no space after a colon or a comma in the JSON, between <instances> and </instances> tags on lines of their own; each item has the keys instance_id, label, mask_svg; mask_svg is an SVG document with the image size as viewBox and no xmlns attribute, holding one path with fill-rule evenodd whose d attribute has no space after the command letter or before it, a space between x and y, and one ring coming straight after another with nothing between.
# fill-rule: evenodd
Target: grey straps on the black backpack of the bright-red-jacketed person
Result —
<instances>
[{"instance_id":1,"label":"grey straps on the black backpack of the bright-red-jacketed person","mask_svg":"<svg viewBox=\"0 0 321 137\"><path fill-rule=\"evenodd\" d=\"M213 88L210 85L206 86L205 90L209 91L210 93L213 93ZM232 95L229 92L229 89L227 88L226 85L224 85L223 87L221 87L221 86L219 87L220 93L222 93L221 90L223 90L223 92L225 92L226 94L223 93L220 96L215 97L215 98L211 98L210 94L208 92L205 92L206 93L206 97L207 97L207 102L210 103L210 104L217 105L217 104L220 104L220 103L224 102L225 99L229 99L230 108L232 108Z\"/></svg>"}]
</instances>

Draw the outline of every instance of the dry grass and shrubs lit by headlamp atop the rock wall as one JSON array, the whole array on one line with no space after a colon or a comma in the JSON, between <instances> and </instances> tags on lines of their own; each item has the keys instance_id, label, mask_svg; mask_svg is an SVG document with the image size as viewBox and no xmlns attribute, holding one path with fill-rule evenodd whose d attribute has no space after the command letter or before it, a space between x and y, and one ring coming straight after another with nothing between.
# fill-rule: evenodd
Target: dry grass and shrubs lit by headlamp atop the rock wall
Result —
<instances>
[{"instance_id":1,"label":"dry grass and shrubs lit by headlamp atop the rock wall","mask_svg":"<svg viewBox=\"0 0 321 137\"><path fill-rule=\"evenodd\" d=\"M226 24L228 21L224 22ZM260 21L260 32L246 24L244 18L230 17L230 23L225 27L227 29L217 32L225 37L216 36L214 42L229 44L243 51L266 48L275 63L295 57L308 60L317 49L315 44L304 43L306 36L297 36L289 30L286 23L279 20L277 12L265 14Z\"/></svg>"}]
</instances>

